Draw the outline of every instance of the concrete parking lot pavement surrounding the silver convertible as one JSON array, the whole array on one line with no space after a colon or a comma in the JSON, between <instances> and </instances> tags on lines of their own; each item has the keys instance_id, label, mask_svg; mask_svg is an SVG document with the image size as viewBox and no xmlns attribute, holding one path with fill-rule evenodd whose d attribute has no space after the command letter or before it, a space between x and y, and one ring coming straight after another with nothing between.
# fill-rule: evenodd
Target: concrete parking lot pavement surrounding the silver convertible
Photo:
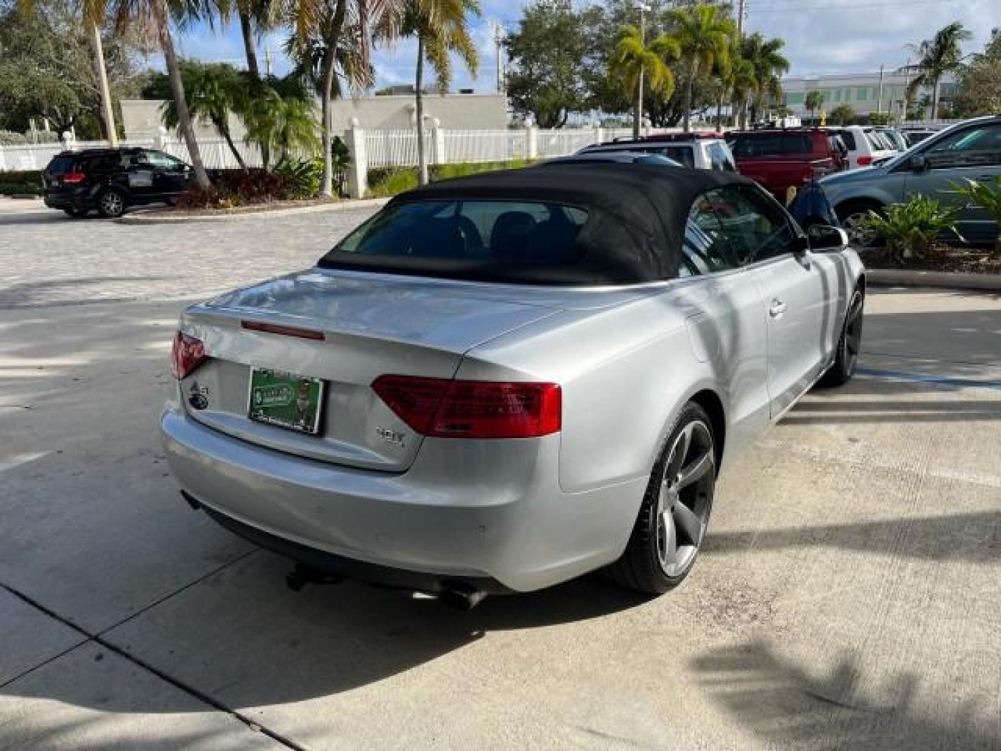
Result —
<instances>
[{"instance_id":1,"label":"concrete parking lot pavement surrounding the silver convertible","mask_svg":"<svg viewBox=\"0 0 1001 751\"><path fill-rule=\"evenodd\" d=\"M299 267L335 234L316 221L262 222L267 247L157 227L162 272L115 244L138 227L70 225L108 276L202 296L225 274L195 259L242 248L227 285ZM0 282L0 749L1001 749L997 296L873 290L863 374L722 481L679 590L588 577L460 614L292 593L189 511L155 433L182 290L79 304L101 274L2 222L0 260L44 270Z\"/></svg>"}]
</instances>

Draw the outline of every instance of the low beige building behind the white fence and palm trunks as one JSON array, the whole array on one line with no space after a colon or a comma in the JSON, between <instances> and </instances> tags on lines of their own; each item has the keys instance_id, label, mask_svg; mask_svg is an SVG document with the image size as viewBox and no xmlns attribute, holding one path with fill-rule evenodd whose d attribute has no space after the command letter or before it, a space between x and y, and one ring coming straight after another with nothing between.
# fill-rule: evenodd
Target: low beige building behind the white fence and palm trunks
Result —
<instances>
[{"instance_id":1,"label":"low beige building behind the white fence and palm trunks","mask_svg":"<svg viewBox=\"0 0 1001 751\"><path fill-rule=\"evenodd\" d=\"M126 138L154 137L161 125L161 104L155 99L122 100ZM366 130L409 129L414 125L414 110L412 94L337 99L333 102L333 129L346 130L352 118ZM424 116L449 130L500 130L508 127L508 100L503 94L426 94ZM230 129L233 138L243 137L243 124L233 115ZM196 135L211 138L217 134L210 123L199 122Z\"/></svg>"}]
</instances>

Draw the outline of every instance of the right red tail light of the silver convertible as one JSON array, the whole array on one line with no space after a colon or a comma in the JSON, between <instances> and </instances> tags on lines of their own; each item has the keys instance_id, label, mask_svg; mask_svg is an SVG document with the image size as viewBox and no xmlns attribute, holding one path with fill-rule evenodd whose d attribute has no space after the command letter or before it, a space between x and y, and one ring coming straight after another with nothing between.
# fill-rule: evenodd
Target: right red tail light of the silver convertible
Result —
<instances>
[{"instance_id":1,"label":"right red tail light of the silver convertible","mask_svg":"<svg viewBox=\"0 0 1001 751\"><path fill-rule=\"evenodd\" d=\"M563 425L557 384L380 376L372 389L400 420L424 436L538 438L559 433Z\"/></svg>"}]
</instances>

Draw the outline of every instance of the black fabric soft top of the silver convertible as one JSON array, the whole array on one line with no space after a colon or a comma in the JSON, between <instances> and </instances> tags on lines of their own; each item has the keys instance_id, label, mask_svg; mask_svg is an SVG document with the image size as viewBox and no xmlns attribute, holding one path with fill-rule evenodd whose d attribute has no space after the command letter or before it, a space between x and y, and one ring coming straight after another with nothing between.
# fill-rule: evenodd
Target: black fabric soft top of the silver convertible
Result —
<instances>
[{"instance_id":1,"label":"black fabric soft top of the silver convertible","mask_svg":"<svg viewBox=\"0 0 1001 751\"><path fill-rule=\"evenodd\" d=\"M509 200L579 206L589 219L580 253L561 265L514 266L486 259L407 258L331 250L319 265L481 281L629 284L677 275L689 211L720 185L753 184L732 172L644 164L542 164L432 182L383 209L414 201ZM630 231L624 232L623 227ZM624 241L628 237L629 241Z\"/></svg>"}]
</instances>

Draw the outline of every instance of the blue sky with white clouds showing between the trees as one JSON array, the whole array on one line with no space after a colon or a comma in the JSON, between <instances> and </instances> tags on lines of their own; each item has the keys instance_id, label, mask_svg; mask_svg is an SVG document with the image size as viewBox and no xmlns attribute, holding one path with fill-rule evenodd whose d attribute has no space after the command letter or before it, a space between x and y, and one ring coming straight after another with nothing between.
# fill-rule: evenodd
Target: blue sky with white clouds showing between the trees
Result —
<instances>
[{"instance_id":1,"label":"blue sky with white clouds showing between the trees","mask_svg":"<svg viewBox=\"0 0 1001 751\"><path fill-rule=\"evenodd\" d=\"M930 37L954 20L974 33L969 51L982 48L992 28L1001 27L1001 0L747 0L748 29L786 40L792 73L855 73L892 70L908 59L906 45ZM455 65L454 87L492 91L496 79L492 25L514 27L529 0L485 0L474 24L479 49L479 75L472 79ZM582 4L576 0L576 4ZM261 40L259 52L272 50L274 71L284 73L288 62L281 55L284 33ZM178 39L182 54L203 60L243 63L239 28L230 24L215 32L196 27ZM415 46L411 40L375 54L378 85L413 80Z\"/></svg>"}]
</instances>

